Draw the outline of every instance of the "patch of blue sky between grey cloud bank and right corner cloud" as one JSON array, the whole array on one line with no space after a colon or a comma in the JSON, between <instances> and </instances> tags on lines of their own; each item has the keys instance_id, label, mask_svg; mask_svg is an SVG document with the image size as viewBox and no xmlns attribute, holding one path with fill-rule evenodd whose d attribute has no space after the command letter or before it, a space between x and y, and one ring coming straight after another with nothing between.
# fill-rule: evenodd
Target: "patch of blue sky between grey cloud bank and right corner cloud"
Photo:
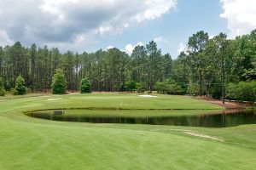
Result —
<instances>
[{"instance_id":1,"label":"patch of blue sky between grey cloud bank and right corner cloud","mask_svg":"<svg viewBox=\"0 0 256 170\"><path fill-rule=\"evenodd\" d=\"M148 43L156 37L162 37L163 40L157 42L159 48L176 58L179 44L185 45L196 31L207 31L209 36L222 31L227 33L226 20L219 16L222 12L221 3L217 0L179 0L174 10L160 19L149 21L145 26L136 26L117 35L98 37L98 48L110 45L125 48L129 43Z\"/></svg>"}]
</instances>

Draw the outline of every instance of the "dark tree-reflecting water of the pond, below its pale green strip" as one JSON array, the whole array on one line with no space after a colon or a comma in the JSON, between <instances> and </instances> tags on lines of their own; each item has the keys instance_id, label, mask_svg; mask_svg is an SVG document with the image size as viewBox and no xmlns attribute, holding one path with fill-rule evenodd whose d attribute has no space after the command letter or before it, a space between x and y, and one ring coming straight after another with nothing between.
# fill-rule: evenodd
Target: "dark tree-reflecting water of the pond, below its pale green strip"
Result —
<instances>
[{"instance_id":1,"label":"dark tree-reflecting water of the pond, below its pale green strip","mask_svg":"<svg viewBox=\"0 0 256 170\"><path fill-rule=\"evenodd\" d=\"M172 116L172 111L170 111L169 115L165 116L97 116L88 114L73 115L66 114L66 111L34 111L26 113L26 115L62 122L127 123L190 127L235 127L243 124L256 123L256 111L218 111L216 113L212 112L211 114L186 114L183 116ZM81 112L83 111L84 110L81 110Z\"/></svg>"}]
</instances>

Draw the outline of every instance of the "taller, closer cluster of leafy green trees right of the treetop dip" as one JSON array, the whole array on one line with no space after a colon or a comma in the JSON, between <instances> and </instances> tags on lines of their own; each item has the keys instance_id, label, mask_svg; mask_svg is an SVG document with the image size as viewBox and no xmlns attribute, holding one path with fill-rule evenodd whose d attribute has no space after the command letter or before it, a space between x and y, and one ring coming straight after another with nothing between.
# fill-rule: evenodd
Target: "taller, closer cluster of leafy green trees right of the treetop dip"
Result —
<instances>
[{"instance_id":1,"label":"taller, closer cluster of leafy green trees right of the treetop dip","mask_svg":"<svg viewBox=\"0 0 256 170\"><path fill-rule=\"evenodd\" d=\"M187 48L173 61L172 79L185 93L230 98L230 83L250 82L256 79L256 30L250 34L229 39L224 33L209 38L198 31L189 37ZM245 88L237 88L242 90ZM255 86L250 90L256 99ZM240 92L243 93L243 92Z\"/></svg>"}]
</instances>

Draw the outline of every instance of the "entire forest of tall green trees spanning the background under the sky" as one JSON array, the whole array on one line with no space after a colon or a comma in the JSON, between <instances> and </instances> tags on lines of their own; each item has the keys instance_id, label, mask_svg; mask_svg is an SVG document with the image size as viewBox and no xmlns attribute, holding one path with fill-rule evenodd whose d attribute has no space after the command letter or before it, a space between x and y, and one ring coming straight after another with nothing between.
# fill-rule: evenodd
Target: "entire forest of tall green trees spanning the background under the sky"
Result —
<instances>
[{"instance_id":1,"label":"entire forest of tall green trees spanning the background under the sky","mask_svg":"<svg viewBox=\"0 0 256 170\"><path fill-rule=\"evenodd\" d=\"M0 47L0 77L6 90L21 76L32 92L49 92L58 68L69 91L78 91L81 79L88 77L92 91L125 91L127 82L134 82L142 91L220 98L230 83L256 79L256 30L234 39L224 33L209 38L198 31L177 59L162 54L154 41L138 45L131 55L118 48L61 54L58 48L26 48L20 42Z\"/></svg>"}]
</instances>

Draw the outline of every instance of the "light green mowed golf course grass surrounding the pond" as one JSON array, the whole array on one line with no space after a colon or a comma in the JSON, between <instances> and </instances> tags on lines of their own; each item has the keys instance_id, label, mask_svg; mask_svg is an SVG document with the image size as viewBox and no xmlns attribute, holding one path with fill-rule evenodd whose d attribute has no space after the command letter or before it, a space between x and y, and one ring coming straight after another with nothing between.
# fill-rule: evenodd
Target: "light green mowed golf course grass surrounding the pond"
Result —
<instances>
[{"instance_id":1,"label":"light green mowed golf course grass surrounding the pond","mask_svg":"<svg viewBox=\"0 0 256 170\"><path fill-rule=\"evenodd\" d=\"M48 100L55 99L55 100ZM254 169L256 125L228 128L53 122L45 108L218 110L198 99L78 94L0 100L0 169ZM191 136L216 136L224 142Z\"/></svg>"}]
</instances>

